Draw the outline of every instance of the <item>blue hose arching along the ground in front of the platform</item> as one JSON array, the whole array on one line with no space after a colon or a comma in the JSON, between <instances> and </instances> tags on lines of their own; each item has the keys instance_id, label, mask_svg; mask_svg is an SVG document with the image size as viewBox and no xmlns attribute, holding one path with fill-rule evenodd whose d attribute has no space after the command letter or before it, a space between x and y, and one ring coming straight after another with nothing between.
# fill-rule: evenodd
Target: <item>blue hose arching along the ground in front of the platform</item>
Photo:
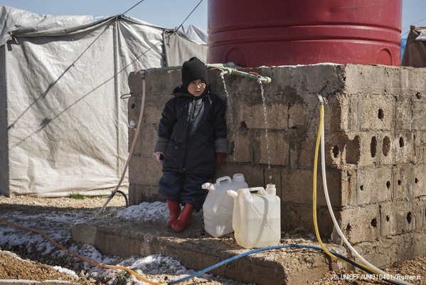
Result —
<instances>
[{"instance_id":1,"label":"blue hose arching along the ground in front of the platform","mask_svg":"<svg viewBox=\"0 0 426 285\"><path fill-rule=\"evenodd\" d=\"M277 245L277 246L274 246L274 247L263 247L261 249L253 249L250 252L244 252L243 254L235 255L235 257L230 257L229 259L225 259L223 261L220 261L219 263L214 264L214 265L212 265L212 266L210 266L210 267L208 267L206 269L198 271L198 272L196 272L196 273L194 273L192 275L186 276L186 277L184 277L182 279L175 280L175 281L170 281L167 284L177 284L177 283L186 281L186 280L191 279L191 278L193 278L195 276L201 275L203 273L206 273L207 271L211 271L211 270L213 270L213 269L215 269L215 268L217 268L219 266L222 266L223 264L227 264L230 261L233 261L235 259L239 259L240 257L245 257L245 256L247 256L249 254L254 254L256 252L265 252L265 251L270 250L270 249L284 249L284 248L289 248L289 247L298 247L298 248L305 248L305 249L315 249L315 250L319 250L321 252L324 252L324 250L321 247L315 247L315 246L311 246L311 245L307 245L307 244L282 244L282 245ZM377 275L373 271L371 271L371 270L367 269L366 267L362 266L361 264L357 264L356 262L351 261L351 259L347 259L346 257L344 257L344 256L342 256L340 254L337 254L336 252L331 252L331 254L333 254L335 257L339 257L339 258L343 259L344 261L348 262L349 264L352 264L353 266L358 267L359 269L361 269L363 271L366 271L368 274ZM388 281L390 284L401 284L401 283L399 283L397 281L385 279L383 276L380 276L380 278L383 279L384 281Z\"/></svg>"}]
</instances>

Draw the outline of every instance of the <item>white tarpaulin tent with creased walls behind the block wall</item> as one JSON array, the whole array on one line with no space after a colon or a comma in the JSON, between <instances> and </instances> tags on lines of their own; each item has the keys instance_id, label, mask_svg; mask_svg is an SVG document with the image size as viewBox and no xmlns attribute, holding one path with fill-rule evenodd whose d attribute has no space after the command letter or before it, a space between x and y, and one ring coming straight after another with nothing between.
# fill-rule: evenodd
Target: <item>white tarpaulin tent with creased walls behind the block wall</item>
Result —
<instances>
[{"instance_id":1,"label":"white tarpaulin tent with creased walls behind the block wall","mask_svg":"<svg viewBox=\"0 0 426 285\"><path fill-rule=\"evenodd\" d=\"M0 195L109 195L127 160L128 74L206 60L182 33L117 15L0 6ZM122 183L127 190L127 177ZM121 188L120 188L121 189Z\"/></svg>"}]
</instances>

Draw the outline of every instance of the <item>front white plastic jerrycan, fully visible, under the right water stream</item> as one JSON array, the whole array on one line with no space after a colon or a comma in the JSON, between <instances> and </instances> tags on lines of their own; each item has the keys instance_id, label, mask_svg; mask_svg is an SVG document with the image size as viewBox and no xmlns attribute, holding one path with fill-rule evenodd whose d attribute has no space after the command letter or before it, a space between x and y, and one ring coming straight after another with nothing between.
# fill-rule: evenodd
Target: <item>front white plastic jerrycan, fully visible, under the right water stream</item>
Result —
<instances>
[{"instance_id":1,"label":"front white plastic jerrycan, fully visible, under the right water stream","mask_svg":"<svg viewBox=\"0 0 426 285\"><path fill-rule=\"evenodd\" d=\"M281 203L275 185L228 191L234 198L233 229L241 247L272 247L281 239Z\"/></svg>"}]
</instances>

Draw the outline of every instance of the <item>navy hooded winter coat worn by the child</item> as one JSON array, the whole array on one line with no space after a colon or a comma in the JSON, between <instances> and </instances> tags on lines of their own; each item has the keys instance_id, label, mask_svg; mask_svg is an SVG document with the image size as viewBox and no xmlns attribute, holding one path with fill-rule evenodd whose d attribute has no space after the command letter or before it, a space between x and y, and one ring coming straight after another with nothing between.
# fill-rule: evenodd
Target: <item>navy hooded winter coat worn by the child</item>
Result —
<instances>
[{"instance_id":1,"label":"navy hooded winter coat worn by the child","mask_svg":"<svg viewBox=\"0 0 426 285\"><path fill-rule=\"evenodd\" d=\"M184 89L175 93L161 113L154 150L164 152L163 171L214 175L215 152L228 151L225 110L208 88L199 97Z\"/></svg>"}]
</instances>

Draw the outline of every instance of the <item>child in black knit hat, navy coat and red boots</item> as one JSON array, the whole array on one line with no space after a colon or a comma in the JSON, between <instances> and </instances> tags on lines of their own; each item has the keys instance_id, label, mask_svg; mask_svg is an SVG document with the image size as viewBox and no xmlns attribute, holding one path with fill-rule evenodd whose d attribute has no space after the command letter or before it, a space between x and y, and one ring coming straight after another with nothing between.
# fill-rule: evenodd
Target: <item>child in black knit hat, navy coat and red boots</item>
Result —
<instances>
[{"instance_id":1,"label":"child in black knit hat, navy coat and red boots","mask_svg":"<svg viewBox=\"0 0 426 285\"><path fill-rule=\"evenodd\" d=\"M228 153L226 106L209 92L206 65L193 57L182 66L182 83L161 113L154 155L163 163L159 195L169 206L167 227L176 232L203 206L203 183ZM181 209L180 204L183 204Z\"/></svg>"}]
</instances>

